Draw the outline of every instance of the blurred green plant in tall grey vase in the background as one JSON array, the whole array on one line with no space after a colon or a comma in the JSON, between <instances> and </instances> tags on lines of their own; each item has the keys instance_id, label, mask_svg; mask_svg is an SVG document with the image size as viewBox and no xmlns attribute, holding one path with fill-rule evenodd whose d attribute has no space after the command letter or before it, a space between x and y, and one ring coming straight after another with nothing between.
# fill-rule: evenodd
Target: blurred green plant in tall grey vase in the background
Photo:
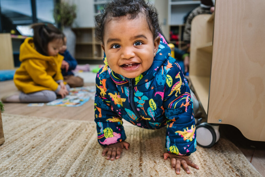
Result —
<instances>
[{"instance_id":1,"label":"blurred green plant in tall grey vase in the background","mask_svg":"<svg viewBox=\"0 0 265 177\"><path fill-rule=\"evenodd\" d=\"M54 20L61 24L63 33L67 37L67 49L70 54L75 56L76 35L72 31L72 24L76 18L76 5L68 2L57 3L54 8Z\"/></svg>"}]
</instances>

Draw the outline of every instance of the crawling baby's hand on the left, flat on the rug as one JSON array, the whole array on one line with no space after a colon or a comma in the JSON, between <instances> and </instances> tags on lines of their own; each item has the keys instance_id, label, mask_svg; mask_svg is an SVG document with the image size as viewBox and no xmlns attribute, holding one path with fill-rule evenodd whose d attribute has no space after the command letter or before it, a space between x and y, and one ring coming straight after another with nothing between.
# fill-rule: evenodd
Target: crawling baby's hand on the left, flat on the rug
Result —
<instances>
[{"instance_id":1,"label":"crawling baby's hand on the left, flat on the rug","mask_svg":"<svg viewBox=\"0 0 265 177\"><path fill-rule=\"evenodd\" d=\"M130 143L126 141L121 141L115 144L110 144L103 149L102 156L105 156L105 154L107 153L107 160L109 159L115 160L115 157L116 159L120 158L123 148L128 150L129 147L130 147Z\"/></svg>"}]
</instances>

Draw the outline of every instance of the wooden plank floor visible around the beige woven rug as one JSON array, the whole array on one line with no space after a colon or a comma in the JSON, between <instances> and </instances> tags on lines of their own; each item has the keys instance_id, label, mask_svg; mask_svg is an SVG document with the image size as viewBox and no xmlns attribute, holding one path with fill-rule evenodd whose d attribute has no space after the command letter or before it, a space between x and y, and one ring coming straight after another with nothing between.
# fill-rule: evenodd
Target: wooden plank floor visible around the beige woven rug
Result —
<instances>
[{"instance_id":1,"label":"wooden plank floor visible around the beige woven rug","mask_svg":"<svg viewBox=\"0 0 265 177\"><path fill-rule=\"evenodd\" d=\"M85 86L95 85L94 83ZM13 81L0 82L0 98L17 89ZM5 113L41 116L48 118L94 120L94 101L89 100L80 107L27 107L26 103L5 103ZM251 164L265 177L265 142L251 141L231 125L220 124L220 136L231 140L251 162Z\"/></svg>"}]
</instances>

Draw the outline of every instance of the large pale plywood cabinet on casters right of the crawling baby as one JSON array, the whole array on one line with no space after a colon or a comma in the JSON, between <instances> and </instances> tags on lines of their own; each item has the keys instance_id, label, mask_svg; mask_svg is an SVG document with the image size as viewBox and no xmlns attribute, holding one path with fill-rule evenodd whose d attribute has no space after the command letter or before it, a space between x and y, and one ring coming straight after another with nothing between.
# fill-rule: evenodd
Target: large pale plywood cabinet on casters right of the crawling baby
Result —
<instances>
[{"instance_id":1,"label":"large pale plywood cabinet on casters right of the crawling baby","mask_svg":"<svg viewBox=\"0 0 265 177\"><path fill-rule=\"evenodd\" d=\"M263 0L216 1L214 22L203 14L191 26L189 74L207 122L256 141L265 141L264 8Z\"/></svg>"}]
</instances>

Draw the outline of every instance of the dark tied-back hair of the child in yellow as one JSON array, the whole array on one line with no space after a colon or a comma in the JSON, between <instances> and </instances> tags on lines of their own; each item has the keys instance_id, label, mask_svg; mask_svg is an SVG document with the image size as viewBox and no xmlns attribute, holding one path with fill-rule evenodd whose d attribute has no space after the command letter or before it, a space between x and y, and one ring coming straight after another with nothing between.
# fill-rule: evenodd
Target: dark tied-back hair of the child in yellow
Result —
<instances>
[{"instance_id":1,"label":"dark tied-back hair of the child in yellow","mask_svg":"<svg viewBox=\"0 0 265 177\"><path fill-rule=\"evenodd\" d=\"M56 28L50 23L35 23L31 26L33 29L33 42L37 52L42 55L48 55L48 43L62 39L64 41L64 34L60 29Z\"/></svg>"}]
</instances>

